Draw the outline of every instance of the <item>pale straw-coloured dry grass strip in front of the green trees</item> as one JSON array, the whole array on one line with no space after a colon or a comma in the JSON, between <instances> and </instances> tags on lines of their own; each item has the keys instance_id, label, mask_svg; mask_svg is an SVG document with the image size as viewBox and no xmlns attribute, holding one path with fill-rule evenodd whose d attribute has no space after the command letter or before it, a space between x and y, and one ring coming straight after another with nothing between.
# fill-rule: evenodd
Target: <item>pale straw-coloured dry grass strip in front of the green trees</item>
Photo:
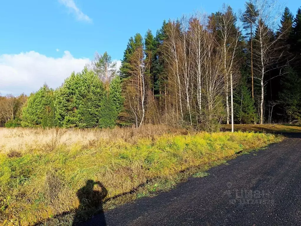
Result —
<instances>
[{"instance_id":1,"label":"pale straw-coloured dry grass strip in front of the green trees","mask_svg":"<svg viewBox=\"0 0 301 226\"><path fill-rule=\"evenodd\" d=\"M73 144L80 144L85 146L99 139L135 143L140 138L153 138L165 133L187 134L187 131L165 125L145 125L139 129L0 128L0 153L47 150L51 145L71 147Z\"/></svg>"}]
</instances>

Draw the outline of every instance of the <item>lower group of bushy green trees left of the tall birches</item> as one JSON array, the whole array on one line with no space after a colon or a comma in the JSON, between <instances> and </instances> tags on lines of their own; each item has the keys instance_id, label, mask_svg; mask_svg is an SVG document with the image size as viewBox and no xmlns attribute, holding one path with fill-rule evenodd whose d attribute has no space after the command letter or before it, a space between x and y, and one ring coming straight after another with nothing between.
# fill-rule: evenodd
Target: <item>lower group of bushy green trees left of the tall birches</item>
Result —
<instances>
[{"instance_id":1,"label":"lower group of bushy green trees left of the tall birches","mask_svg":"<svg viewBox=\"0 0 301 226\"><path fill-rule=\"evenodd\" d=\"M21 107L15 110L14 115L8 111L5 126L114 127L123 110L124 101L121 79L117 76L115 66L116 63L111 61L107 52L101 56L97 54L95 60L82 72L73 72L55 90L45 84L29 97L2 97L6 101L21 97L25 99L22 105L17 105Z\"/></svg>"}]
</instances>

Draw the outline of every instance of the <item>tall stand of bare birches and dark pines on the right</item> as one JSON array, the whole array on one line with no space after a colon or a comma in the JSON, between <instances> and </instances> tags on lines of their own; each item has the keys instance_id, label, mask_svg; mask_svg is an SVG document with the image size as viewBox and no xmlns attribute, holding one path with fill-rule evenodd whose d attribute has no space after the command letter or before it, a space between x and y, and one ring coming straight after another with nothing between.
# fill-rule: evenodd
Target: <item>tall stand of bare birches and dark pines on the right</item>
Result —
<instances>
[{"instance_id":1,"label":"tall stand of bare birches and dark pines on the right","mask_svg":"<svg viewBox=\"0 0 301 226\"><path fill-rule=\"evenodd\" d=\"M249 1L237 16L223 5L131 37L120 69L128 118L215 130L231 121L232 82L235 123L300 122L300 8L281 17L278 6Z\"/></svg>"}]
</instances>

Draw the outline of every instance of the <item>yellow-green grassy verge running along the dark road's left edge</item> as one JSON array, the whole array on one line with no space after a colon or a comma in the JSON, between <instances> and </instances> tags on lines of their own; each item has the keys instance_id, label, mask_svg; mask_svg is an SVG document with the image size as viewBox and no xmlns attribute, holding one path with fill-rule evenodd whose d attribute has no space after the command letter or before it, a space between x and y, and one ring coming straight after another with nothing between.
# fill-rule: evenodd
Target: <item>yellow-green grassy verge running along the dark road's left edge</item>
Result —
<instances>
[{"instance_id":1,"label":"yellow-green grassy verge running along the dark road's left edge","mask_svg":"<svg viewBox=\"0 0 301 226\"><path fill-rule=\"evenodd\" d=\"M0 153L0 224L71 225L100 210L167 190L275 135L219 132L160 134L135 142L97 138L48 149ZM99 201L103 200L103 201ZM50 219L50 220L49 220Z\"/></svg>"}]
</instances>

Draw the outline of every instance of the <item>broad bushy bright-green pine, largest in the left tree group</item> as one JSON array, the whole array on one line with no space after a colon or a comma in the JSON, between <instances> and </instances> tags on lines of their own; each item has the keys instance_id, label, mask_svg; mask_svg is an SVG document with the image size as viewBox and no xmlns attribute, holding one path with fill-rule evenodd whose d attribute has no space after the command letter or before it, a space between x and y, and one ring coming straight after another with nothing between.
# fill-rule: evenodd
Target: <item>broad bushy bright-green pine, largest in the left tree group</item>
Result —
<instances>
[{"instance_id":1,"label":"broad bushy bright-green pine, largest in the left tree group","mask_svg":"<svg viewBox=\"0 0 301 226\"><path fill-rule=\"evenodd\" d=\"M95 127L104 98L103 83L86 67L81 73L71 74L56 91L55 115L62 127Z\"/></svg>"}]
</instances>

